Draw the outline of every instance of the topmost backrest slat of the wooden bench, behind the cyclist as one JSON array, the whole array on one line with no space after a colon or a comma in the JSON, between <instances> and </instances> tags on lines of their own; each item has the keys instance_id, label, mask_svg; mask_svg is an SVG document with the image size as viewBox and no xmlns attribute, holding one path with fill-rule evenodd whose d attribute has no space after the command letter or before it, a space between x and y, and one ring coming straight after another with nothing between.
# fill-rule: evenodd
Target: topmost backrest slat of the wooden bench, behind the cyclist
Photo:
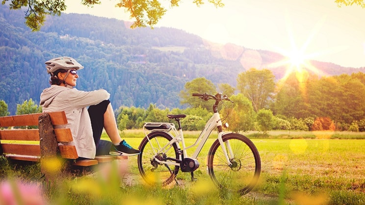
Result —
<instances>
[{"instance_id":1,"label":"topmost backrest slat of the wooden bench, behind the cyclist","mask_svg":"<svg viewBox=\"0 0 365 205\"><path fill-rule=\"evenodd\" d=\"M0 127L38 126L38 118L42 114L44 113L0 117ZM53 125L67 124L67 118L64 111L50 112L49 114Z\"/></svg>"}]
</instances>

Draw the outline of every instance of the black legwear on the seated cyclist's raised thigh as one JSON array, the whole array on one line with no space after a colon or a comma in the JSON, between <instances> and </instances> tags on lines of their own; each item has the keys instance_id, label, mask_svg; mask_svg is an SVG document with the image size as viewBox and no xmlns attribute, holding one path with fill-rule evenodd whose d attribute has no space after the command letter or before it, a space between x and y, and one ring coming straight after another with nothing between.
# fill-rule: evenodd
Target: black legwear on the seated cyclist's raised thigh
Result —
<instances>
[{"instance_id":1,"label":"black legwear on the seated cyclist's raised thigh","mask_svg":"<svg viewBox=\"0 0 365 205\"><path fill-rule=\"evenodd\" d=\"M104 113L109 103L109 100L105 100L99 104L91 105L87 109L90 116L91 127L93 128L93 137L96 147L98 147L100 138L102 137L104 128Z\"/></svg>"}]
</instances>

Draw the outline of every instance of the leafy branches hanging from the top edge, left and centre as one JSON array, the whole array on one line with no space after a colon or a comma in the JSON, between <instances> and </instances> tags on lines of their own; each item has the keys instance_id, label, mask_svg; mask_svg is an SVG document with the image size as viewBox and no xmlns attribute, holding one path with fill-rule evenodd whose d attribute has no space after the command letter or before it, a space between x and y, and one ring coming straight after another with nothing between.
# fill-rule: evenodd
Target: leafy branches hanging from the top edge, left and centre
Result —
<instances>
[{"instance_id":1,"label":"leafy branches hanging from the top edge, left and centre","mask_svg":"<svg viewBox=\"0 0 365 205\"><path fill-rule=\"evenodd\" d=\"M62 11L66 10L64 0L2 0L5 4L10 1L10 9L26 8L26 26L33 31L38 31L44 25L47 15L61 15ZM169 5L161 5L161 0L119 0L116 7L124 8L130 14L130 18L134 19L131 28L146 27L157 24L157 22L166 13L166 6L170 8L179 6L180 0L171 0ZM206 0L193 0L193 2L200 6ZM207 0L215 7L222 7L224 4L222 0ZM81 3L86 6L93 6L101 4L101 0L82 0Z\"/></svg>"}]
</instances>

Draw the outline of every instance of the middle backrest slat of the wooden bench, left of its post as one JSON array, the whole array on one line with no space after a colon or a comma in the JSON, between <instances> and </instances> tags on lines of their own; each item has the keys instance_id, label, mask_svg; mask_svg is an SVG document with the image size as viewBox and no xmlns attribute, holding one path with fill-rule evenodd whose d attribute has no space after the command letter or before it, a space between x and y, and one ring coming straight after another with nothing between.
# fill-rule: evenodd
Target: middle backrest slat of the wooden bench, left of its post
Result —
<instances>
[{"instance_id":1,"label":"middle backrest slat of the wooden bench, left of its post","mask_svg":"<svg viewBox=\"0 0 365 205\"><path fill-rule=\"evenodd\" d=\"M0 130L0 140L39 141L39 130L38 129Z\"/></svg>"}]
</instances>

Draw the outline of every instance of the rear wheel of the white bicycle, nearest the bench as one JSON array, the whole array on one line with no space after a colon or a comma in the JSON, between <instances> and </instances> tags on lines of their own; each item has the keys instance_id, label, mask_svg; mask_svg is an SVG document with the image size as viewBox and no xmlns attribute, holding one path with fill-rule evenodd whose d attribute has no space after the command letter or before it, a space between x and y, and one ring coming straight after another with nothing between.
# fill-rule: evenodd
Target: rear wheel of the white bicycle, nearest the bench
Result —
<instances>
[{"instance_id":1,"label":"rear wheel of the white bicycle, nearest the bench","mask_svg":"<svg viewBox=\"0 0 365 205\"><path fill-rule=\"evenodd\" d=\"M172 140L172 136L163 131L154 131L147 136L150 140L144 137L138 147L141 152L137 157L139 173L148 184L165 186L175 179L180 166L158 163L154 160L154 153ZM174 161L171 158L178 159L177 145L175 143L172 144L165 149L165 152L158 153L156 156L162 161Z\"/></svg>"}]
</instances>

